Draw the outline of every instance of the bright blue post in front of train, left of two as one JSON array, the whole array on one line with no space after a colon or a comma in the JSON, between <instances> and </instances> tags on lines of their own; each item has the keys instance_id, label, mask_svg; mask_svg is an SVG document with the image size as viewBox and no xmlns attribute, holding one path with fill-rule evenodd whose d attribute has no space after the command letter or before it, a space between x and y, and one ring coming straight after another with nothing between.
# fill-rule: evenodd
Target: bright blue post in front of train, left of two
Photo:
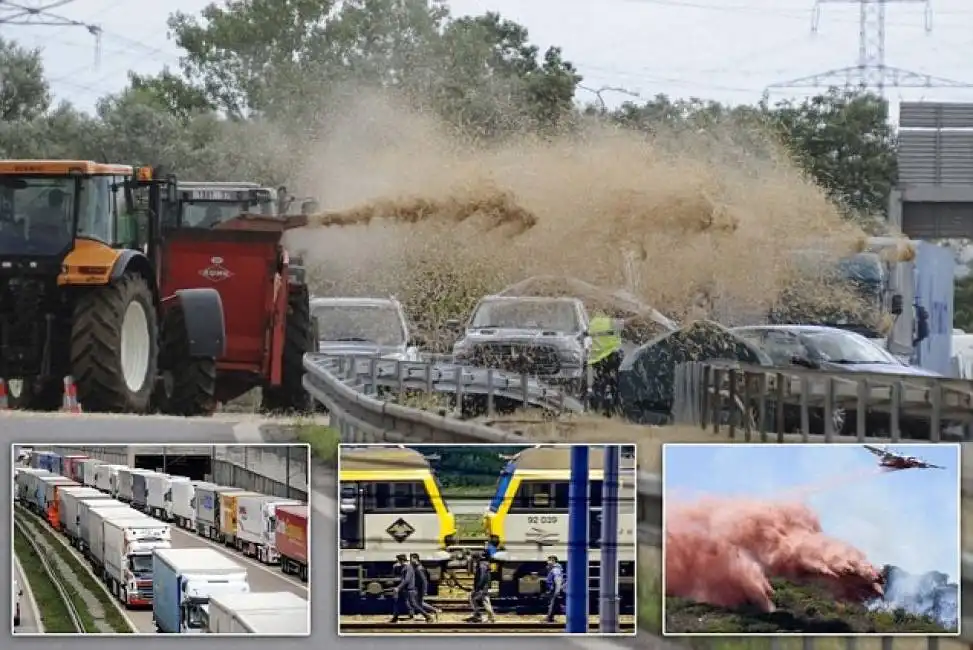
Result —
<instances>
[{"instance_id":1,"label":"bright blue post in front of train, left of two","mask_svg":"<svg viewBox=\"0 0 973 650\"><path fill-rule=\"evenodd\" d=\"M568 488L567 632L588 632L588 447L571 448Z\"/></svg>"}]
</instances>

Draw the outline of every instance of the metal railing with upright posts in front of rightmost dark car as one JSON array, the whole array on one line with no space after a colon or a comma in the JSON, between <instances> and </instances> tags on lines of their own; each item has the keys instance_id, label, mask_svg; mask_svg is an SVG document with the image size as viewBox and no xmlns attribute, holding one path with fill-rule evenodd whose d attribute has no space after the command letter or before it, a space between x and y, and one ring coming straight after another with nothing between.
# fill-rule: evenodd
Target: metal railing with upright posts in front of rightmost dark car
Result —
<instances>
[{"instance_id":1,"label":"metal railing with upright posts in front of rightmost dark car","mask_svg":"<svg viewBox=\"0 0 973 650\"><path fill-rule=\"evenodd\" d=\"M676 367L673 420L702 428L742 429L762 441L775 432L930 440L971 439L973 381L874 372L768 368L735 361ZM878 434L878 435L876 435ZM846 438L847 439L847 438Z\"/></svg>"}]
</instances>

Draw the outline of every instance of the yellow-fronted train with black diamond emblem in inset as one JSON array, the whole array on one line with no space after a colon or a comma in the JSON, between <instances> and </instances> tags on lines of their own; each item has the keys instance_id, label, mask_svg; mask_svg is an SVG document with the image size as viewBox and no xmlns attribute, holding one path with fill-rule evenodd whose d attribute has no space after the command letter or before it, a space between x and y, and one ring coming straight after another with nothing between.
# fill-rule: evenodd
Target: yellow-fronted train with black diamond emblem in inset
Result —
<instances>
[{"instance_id":1,"label":"yellow-fronted train with black diamond emblem in inset","mask_svg":"<svg viewBox=\"0 0 973 650\"><path fill-rule=\"evenodd\" d=\"M402 446L342 446L338 480L341 613L387 612L401 553L419 554L438 595L458 540L429 460Z\"/></svg>"}]
</instances>

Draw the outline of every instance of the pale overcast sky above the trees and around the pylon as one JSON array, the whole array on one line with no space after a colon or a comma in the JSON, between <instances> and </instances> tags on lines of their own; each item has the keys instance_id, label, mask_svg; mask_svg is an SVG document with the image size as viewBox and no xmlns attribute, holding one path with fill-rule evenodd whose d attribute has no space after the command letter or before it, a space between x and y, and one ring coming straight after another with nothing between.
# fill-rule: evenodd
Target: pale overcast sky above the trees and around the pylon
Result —
<instances>
[{"instance_id":1,"label":"pale overcast sky above the trees and around the pylon","mask_svg":"<svg viewBox=\"0 0 973 650\"><path fill-rule=\"evenodd\" d=\"M57 0L18 0L43 7ZM59 3L60 4L60 3ZM167 39L167 16L198 13L206 0L68 0L55 13L102 29L0 25L4 38L42 48L58 99L84 110L126 84L126 71L155 73L178 65L180 51ZM889 88L898 100L973 101L973 4L931 0L931 31L924 3L889 0L886 65L971 84L970 88ZM533 42L559 45L593 90L618 86L643 97L665 93L750 103L770 85L855 65L858 6L823 2L812 33L814 0L455 0L454 15L499 11L525 25ZM0 18L5 15L0 11ZM694 45L695 44L695 45ZM771 99L802 97L814 89L774 90ZM587 95L587 96L586 96ZM602 94L610 106L632 97ZM580 91L579 99L595 101ZM895 111L893 108L893 117Z\"/></svg>"}]
</instances>

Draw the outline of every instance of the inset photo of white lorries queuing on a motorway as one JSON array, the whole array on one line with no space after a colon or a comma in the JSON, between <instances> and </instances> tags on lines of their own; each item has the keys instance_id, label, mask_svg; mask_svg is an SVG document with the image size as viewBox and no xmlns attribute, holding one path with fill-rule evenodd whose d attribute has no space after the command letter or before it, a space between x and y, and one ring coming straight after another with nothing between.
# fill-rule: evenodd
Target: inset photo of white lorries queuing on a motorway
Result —
<instances>
[{"instance_id":1,"label":"inset photo of white lorries queuing on a motorway","mask_svg":"<svg viewBox=\"0 0 973 650\"><path fill-rule=\"evenodd\" d=\"M13 634L311 633L310 447L14 443Z\"/></svg>"}]
</instances>

